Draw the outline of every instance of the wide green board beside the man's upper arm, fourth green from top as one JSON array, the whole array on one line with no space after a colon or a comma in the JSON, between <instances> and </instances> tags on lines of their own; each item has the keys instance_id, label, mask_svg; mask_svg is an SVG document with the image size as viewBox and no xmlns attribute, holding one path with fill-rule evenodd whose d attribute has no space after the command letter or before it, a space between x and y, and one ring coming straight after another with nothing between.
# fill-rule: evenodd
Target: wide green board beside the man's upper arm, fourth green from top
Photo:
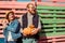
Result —
<instances>
[{"instance_id":1,"label":"wide green board beside the man's upper arm, fourth green from top","mask_svg":"<svg viewBox=\"0 0 65 43\"><path fill-rule=\"evenodd\" d=\"M43 24L60 24L60 23L65 23L65 19L57 19L57 18L40 18L40 20Z\"/></svg>"}]
</instances>

